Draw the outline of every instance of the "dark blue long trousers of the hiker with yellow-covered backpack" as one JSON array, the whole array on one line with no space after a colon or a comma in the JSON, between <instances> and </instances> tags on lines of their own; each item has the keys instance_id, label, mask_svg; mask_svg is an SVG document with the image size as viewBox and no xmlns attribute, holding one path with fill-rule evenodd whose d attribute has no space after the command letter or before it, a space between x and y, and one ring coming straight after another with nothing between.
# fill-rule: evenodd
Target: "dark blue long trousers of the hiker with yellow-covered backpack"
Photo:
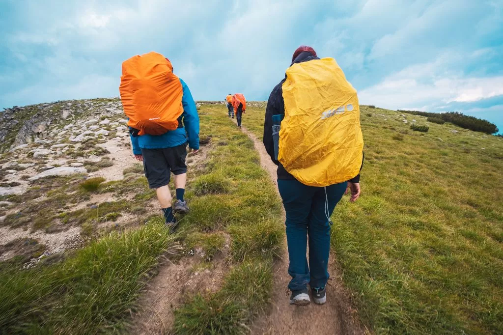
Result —
<instances>
[{"instance_id":1,"label":"dark blue long trousers of the hiker with yellow-covered backpack","mask_svg":"<svg viewBox=\"0 0 503 335\"><path fill-rule=\"evenodd\" d=\"M341 200L347 182L324 187L302 184L296 179L278 180L278 188L286 212L286 238L292 280L288 288L303 290L323 288L328 281L330 223L327 218ZM326 193L325 193L326 191ZM309 264L306 259L309 241Z\"/></svg>"}]
</instances>

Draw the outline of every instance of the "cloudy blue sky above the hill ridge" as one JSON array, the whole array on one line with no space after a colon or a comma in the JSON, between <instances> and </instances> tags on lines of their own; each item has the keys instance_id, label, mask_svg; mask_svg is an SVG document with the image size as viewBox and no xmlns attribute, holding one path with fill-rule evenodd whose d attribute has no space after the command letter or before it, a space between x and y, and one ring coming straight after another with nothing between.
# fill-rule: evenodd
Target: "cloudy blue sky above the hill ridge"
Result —
<instances>
[{"instance_id":1,"label":"cloudy blue sky above the hill ridge","mask_svg":"<svg viewBox=\"0 0 503 335\"><path fill-rule=\"evenodd\" d=\"M0 107L118 96L121 62L152 50L197 100L267 100L307 44L362 104L503 131L501 0L0 0L0 27Z\"/></svg>"}]
</instances>

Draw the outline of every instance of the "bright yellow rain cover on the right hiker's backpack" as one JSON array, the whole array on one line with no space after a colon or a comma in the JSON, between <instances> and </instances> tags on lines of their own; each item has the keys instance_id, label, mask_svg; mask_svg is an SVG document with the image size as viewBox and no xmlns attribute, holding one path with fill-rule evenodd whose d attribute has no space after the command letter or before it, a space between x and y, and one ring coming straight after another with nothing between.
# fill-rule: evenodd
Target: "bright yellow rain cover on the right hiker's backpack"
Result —
<instances>
[{"instance_id":1,"label":"bright yellow rain cover on the right hiker's backpack","mask_svg":"<svg viewBox=\"0 0 503 335\"><path fill-rule=\"evenodd\" d=\"M283 83L278 160L299 182L328 186L360 172L363 136L356 90L333 58L293 64Z\"/></svg>"}]
</instances>

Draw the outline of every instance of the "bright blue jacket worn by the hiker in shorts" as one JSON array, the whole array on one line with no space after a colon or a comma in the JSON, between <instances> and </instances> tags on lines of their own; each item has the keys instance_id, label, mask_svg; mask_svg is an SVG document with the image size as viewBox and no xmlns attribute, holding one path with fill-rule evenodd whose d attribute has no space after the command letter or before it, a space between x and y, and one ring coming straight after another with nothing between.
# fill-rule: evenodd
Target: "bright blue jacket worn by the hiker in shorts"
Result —
<instances>
[{"instance_id":1,"label":"bright blue jacket worn by the hiker in shorts","mask_svg":"<svg viewBox=\"0 0 503 335\"><path fill-rule=\"evenodd\" d=\"M133 153L141 155L141 149L162 149L172 148L189 142L191 149L199 149L199 115L197 114L196 104L192 98L187 84L180 79L183 89L182 105L184 112L182 120L184 128L171 130L162 135L142 135L131 137Z\"/></svg>"}]
</instances>

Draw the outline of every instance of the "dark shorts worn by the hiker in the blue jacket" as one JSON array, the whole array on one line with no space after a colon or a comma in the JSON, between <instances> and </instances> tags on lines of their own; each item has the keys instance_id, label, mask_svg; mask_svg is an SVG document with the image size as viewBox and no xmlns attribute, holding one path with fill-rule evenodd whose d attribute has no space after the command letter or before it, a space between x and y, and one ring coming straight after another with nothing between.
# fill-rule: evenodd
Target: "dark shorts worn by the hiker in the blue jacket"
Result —
<instances>
[{"instance_id":1,"label":"dark shorts worn by the hiker in the blue jacket","mask_svg":"<svg viewBox=\"0 0 503 335\"><path fill-rule=\"evenodd\" d=\"M170 175L187 173L185 158L187 157L187 144L172 148L141 149L143 155L143 170L151 189L157 189L170 183Z\"/></svg>"}]
</instances>

